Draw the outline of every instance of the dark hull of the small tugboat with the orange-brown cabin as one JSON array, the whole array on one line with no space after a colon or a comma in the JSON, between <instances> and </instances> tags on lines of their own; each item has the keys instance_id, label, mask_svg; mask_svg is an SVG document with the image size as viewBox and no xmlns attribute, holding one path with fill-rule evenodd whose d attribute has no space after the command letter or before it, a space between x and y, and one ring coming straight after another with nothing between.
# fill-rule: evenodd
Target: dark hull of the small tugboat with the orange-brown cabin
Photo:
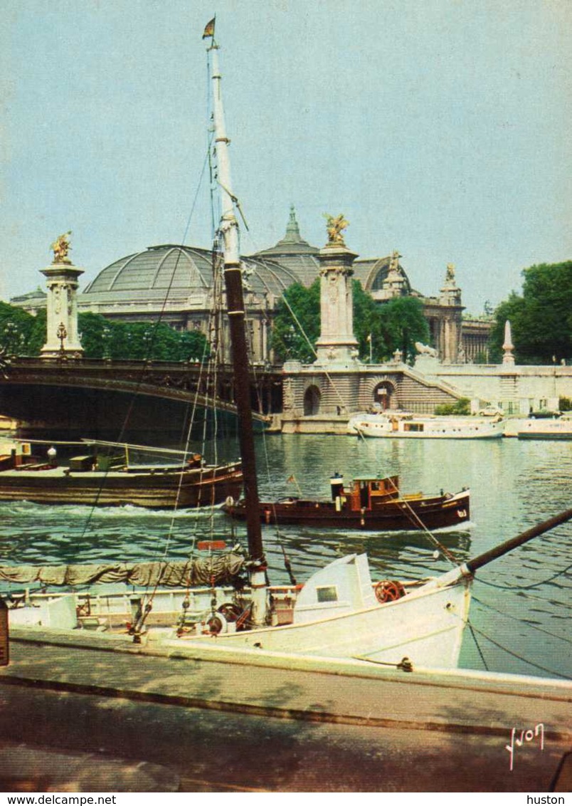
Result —
<instances>
[{"instance_id":1,"label":"dark hull of the small tugboat with the orange-brown cabin","mask_svg":"<svg viewBox=\"0 0 572 806\"><path fill-rule=\"evenodd\" d=\"M224 505L230 517L246 519L242 501ZM296 498L260 504L260 520L273 525L330 527L340 530L408 531L460 526L470 520L470 493L455 496L398 498L374 509L336 509L334 501L308 501Z\"/></svg>"}]
</instances>

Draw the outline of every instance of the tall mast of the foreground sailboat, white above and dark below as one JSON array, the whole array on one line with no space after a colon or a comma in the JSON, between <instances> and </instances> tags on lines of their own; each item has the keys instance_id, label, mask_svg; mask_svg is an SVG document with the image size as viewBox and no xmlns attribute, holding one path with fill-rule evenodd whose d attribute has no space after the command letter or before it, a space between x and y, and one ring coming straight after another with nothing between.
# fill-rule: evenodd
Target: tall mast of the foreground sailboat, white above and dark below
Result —
<instances>
[{"instance_id":1,"label":"tall mast of the foreground sailboat, white above and dark below","mask_svg":"<svg viewBox=\"0 0 572 806\"><path fill-rule=\"evenodd\" d=\"M224 242L226 307L234 369L234 397L238 410L238 442L244 476L248 553L251 560L251 588L254 601L252 621L255 624L263 624L266 618L266 560L262 543L258 480L256 478L251 381L245 328L246 310L242 293L238 221L234 214L234 194L230 177L229 139L226 136L225 115L222 106L221 73L218 68L218 45L214 42L214 26L209 52L212 59L214 147L218 164L218 185L221 190L220 229Z\"/></svg>"}]
</instances>

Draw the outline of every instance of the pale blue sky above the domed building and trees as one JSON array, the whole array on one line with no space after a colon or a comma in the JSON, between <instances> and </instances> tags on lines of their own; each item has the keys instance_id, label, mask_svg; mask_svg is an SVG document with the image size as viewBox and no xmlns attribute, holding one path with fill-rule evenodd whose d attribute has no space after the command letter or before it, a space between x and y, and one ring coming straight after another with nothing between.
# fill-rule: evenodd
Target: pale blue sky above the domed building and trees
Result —
<instances>
[{"instance_id":1,"label":"pale blue sky above the domed building and trees","mask_svg":"<svg viewBox=\"0 0 572 806\"><path fill-rule=\"evenodd\" d=\"M216 14L242 252L400 251L473 314L572 258L569 0L0 0L0 299L72 231L81 288L160 243L209 247L205 24ZM202 175L202 180L201 180Z\"/></svg>"}]
</instances>

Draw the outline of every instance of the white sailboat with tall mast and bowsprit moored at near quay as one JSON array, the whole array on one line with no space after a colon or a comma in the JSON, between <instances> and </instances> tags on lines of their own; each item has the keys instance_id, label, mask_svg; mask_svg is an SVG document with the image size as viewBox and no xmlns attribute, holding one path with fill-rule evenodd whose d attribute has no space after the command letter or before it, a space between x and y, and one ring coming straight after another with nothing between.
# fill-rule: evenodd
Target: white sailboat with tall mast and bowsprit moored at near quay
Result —
<instances>
[{"instance_id":1,"label":"white sailboat with tall mast and bowsprit moored at near quay","mask_svg":"<svg viewBox=\"0 0 572 806\"><path fill-rule=\"evenodd\" d=\"M12 596L11 629L19 629L19 635L28 630L32 639L40 632L45 638L52 631L56 640L63 640L62 632L69 634L71 630L78 646L100 648L106 641L118 646L118 630L124 641L139 644L139 651L153 653L162 646L169 654L202 652L229 660L279 654L281 659L357 659L404 671L417 667L455 668L476 571L568 521L572 509L466 563L454 563L451 571L437 578L419 583L374 583L367 555L354 554L334 560L302 586L293 581L280 588L269 585L259 514L246 312L222 78L213 27L205 35L210 39L212 58L214 143L222 202L220 231L246 501L247 552L235 546L230 555L218 556L220 546L210 542L204 546L205 559L186 563L2 566L0 579L14 584L125 582L134 587L146 586L127 594L106 592L101 598L91 590L61 596ZM454 562L450 553L445 553ZM161 596L160 590L164 591Z\"/></svg>"}]
</instances>

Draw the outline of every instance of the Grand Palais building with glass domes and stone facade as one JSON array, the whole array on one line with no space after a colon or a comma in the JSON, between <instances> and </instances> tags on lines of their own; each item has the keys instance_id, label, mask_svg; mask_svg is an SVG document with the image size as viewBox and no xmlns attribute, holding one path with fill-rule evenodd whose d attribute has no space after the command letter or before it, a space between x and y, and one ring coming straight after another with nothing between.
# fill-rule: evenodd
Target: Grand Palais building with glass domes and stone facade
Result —
<instances>
[{"instance_id":1,"label":"Grand Palais building with glass domes and stone facade","mask_svg":"<svg viewBox=\"0 0 572 806\"><path fill-rule=\"evenodd\" d=\"M269 333L276 305L296 281L312 285L320 264L318 247L302 239L291 207L284 238L275 246L242 258L249 339L255 361L272 363ZM397 296L418 297L429 325L430 342L445 364L487 357L491 322L462 318L462 290L452 266L444 267L441 293L425 297L412 287L400 255L360 259L354 277L380 305ZM213 255L192 246L162 244L115 260L78 293L80 313L91 311L126 322L156 322L176 330L201 330L209 337L213 310ZM41 289L10 302L31 314L46 305Z\"/></svg>"}]
</instances>

